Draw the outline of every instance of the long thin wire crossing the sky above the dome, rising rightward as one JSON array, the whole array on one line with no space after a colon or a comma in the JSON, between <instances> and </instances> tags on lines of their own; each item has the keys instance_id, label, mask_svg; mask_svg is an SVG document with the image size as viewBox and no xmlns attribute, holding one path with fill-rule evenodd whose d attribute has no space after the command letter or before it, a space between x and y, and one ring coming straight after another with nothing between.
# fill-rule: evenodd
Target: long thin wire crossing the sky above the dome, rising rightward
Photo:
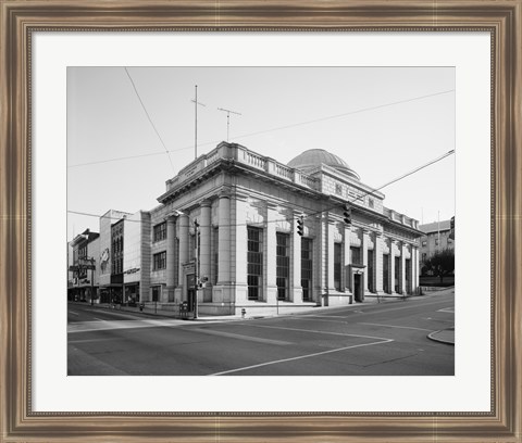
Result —
<instances>
[{"instance_id":1,"label":"long thin wire crossing the sky above the dome, rising rightward","mask_svg":"<svg viewBox=\"0 0 522 443\"><path fill-rule=\"evenodd\" d=\"M418 100L424 100L424 99L428 99L428 98L432 98L432 97L446 94L446 93L449 93L449 92L455 92L455 89L449 89L449 90L446 90L446 91L440 91L440 92L435 92L435 93L431 93L431 94L419 96L419 97L413 97L413 98L410 98L410 99L399 100L399 101L395 101L395 102L378 104L378 105L375 105L375 106L363 107L363 109L360 109L360 110L350 111L350 112L343 113L343 114L331 115L331 116L327 116L327 117L321 117L321 118L306 121L306 122L301 122L301 123L295 123L295 124L290 124L290 125L286 125L286 126L278 126L278 127L275 127L275 128L264 129L264 130L260 130L260 131L257 131L257 132L244 134L243 136L237 136L235 138L240 139L240 138L260 136L262 134L273 132L273 131L283 130L283 129L289 129L289 128L294 128L294 127L297 127L297 126L310 125L312 123L319 123L319 122L324 122L324 121L328 121L328 119L340 118L340 117L345 117L345 116L348 116L348 115L353 115L353 114L359 114L359 113L363 113L363 112L374 111L374 110L388 107L388 106L395 106L397 104L409 103L409 102L418 101ZM215 143L219 143L220 141L221 140L206 141L203 143L200 143L199 145L204 147L204 145L215 144ZM189 147L184 147L184 148L170 150L167 152L170 153L170 152L185 151L185 150L192 149L192 148L194 148L194 145L189 145ZM75 165L69 165L67 167L89 166L89 165L107 163L107 162L117 162L117 161L122 161L122 160L137 159L137 157L142 157L142 156L148 156L148 155L158 155L160 153L163 153L163 152L153 152L153 153L150 153L150 154L141 154L141 155L123 156L123 157L115 157L115 159L109 159L109 160L100 160L98 162L78 163L78 164L75 164Z\"/></svg>"}]
</instances>

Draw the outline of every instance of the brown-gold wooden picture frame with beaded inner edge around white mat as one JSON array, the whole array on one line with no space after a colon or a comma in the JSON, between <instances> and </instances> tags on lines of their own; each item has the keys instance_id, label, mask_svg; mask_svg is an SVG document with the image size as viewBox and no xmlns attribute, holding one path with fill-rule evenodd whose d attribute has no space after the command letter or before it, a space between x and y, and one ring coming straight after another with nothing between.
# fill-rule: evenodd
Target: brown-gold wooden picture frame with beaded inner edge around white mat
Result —
<instances>
[{"instance_id":1,"label":"brown-gold wooden picture frame with beaded inner edge around white mat","mask_svg":"<svg viewBox=\"0 0 522 443\"><path fill-rule=\"evenodd\" d=\"M0 0L0 441L522 442L521 0ZM490 33L492 410L487 414L32 410L32 33L283 29Z\"/></svg>"}]
</instances>

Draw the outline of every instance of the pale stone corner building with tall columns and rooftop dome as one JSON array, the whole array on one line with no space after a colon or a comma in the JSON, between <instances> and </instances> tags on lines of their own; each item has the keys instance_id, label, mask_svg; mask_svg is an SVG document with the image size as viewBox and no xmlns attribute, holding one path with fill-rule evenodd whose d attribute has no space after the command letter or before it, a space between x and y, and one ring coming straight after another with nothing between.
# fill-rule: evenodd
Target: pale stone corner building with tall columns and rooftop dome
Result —
<instances>
[{"instance_id":1,"label":"pale stone corner building with tall columns and rooftop dome","mask_svg":"<svg viewBox=\"0 0 522 443\"><path fill-rule=\"evenodd\" d=\"M419 221L385 207L383 193L325 150L282 164L222 142L158 201L129 239L132 284L146 305L284 314L418 291Z\"/></svg>"}]
</instances>

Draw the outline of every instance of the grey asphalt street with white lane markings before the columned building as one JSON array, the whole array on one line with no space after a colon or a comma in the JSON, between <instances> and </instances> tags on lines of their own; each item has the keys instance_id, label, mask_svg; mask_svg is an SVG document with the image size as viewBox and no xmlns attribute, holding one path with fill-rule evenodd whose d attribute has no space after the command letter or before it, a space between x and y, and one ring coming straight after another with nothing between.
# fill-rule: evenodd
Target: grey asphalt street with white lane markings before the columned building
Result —
<instances>
[{"instance_id":1,"label":"grey asphalt street with white lane markings before the columned building","mask_svg":"<svg viewBox=\"0 0 522 443\"><path fill-rule=\"evenodd\" d=\"M70 376L452 376L453 290L299 315L190 321L67 306Z\"/></svg>"}]
</instances>

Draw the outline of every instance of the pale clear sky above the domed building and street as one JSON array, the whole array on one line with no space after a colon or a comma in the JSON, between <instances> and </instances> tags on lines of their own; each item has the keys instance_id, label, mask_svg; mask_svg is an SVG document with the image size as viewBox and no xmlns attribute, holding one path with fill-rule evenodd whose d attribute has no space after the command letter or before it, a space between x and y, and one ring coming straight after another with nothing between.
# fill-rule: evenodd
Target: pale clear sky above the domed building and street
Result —
<instances>
[{"instance_id":1,"label":"pale clear sky above the domed building and street","mask_svg":"<svg viewBox=\"0 0 522 443\"><path fill-rule=\"evenodd\" d=\"M240 114L228 141L285 164L324 149L373 188L456 148L453 67L69 67L67 240L159 205L195 159L196 85L198 155L227 140L220 107ZM449 219L455 155L381 192L421 224Z\"/></svg>"}]
</instances>

